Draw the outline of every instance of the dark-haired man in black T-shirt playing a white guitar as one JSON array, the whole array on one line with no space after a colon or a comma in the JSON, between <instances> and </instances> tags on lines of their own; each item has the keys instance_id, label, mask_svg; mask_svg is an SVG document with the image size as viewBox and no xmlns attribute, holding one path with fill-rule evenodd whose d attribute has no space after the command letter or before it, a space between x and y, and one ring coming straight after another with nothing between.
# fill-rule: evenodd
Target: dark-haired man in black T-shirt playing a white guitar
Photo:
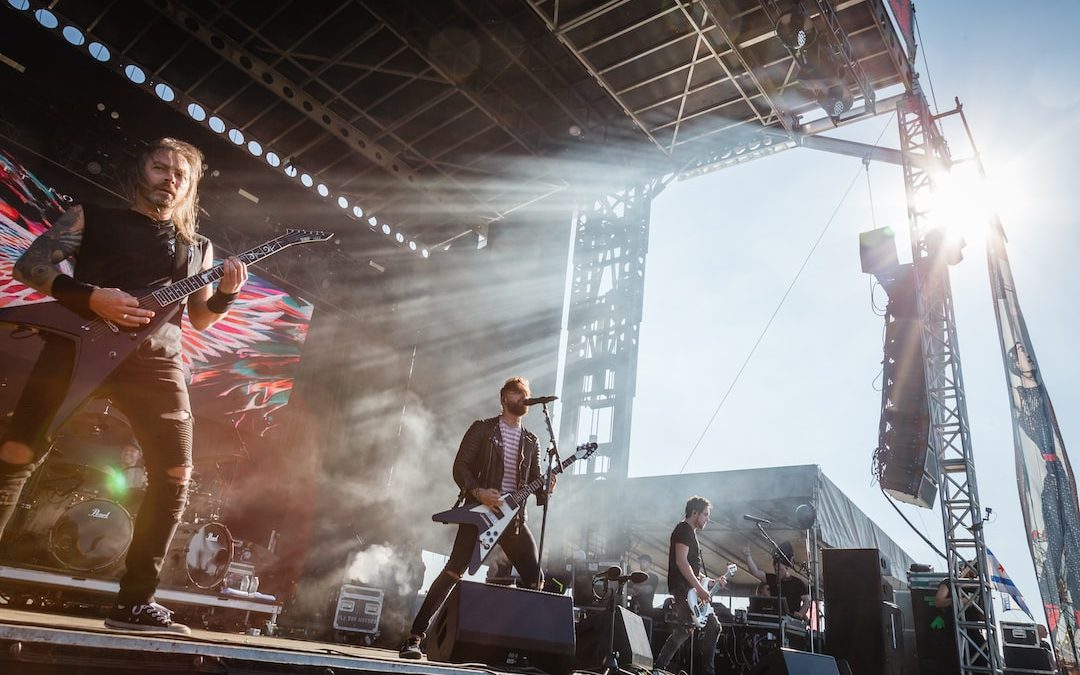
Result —
<instances>
[{"instance_id":1,"label":"dark-haired man in black T-shirt playing a white guitar","mask_svg":"<svg viewBox=\"0 0 1080 675\"><path fill-rule=\"evenodd\" d=\"M713 504L704 497L691 497L686 501L685 517L672 530L671 548L667 552L667 592L675 598L675 616L678 625L672 626L672 634L664 643L657 657L656 666L667 669L667 663L678 651L697 627L690 610L688 597L693 590L699 603L712 603L711 590L728 585L726 578L720 577L713 589L704 585L705 564L701 557L701 546L698 543L698 531L708 525L708 516ZM715 613L710 613L701 630L701 670L704 675L713 675L713 664L716 654L716 638L720 634L720 622Z\"/></svg>"}]
</instances>

